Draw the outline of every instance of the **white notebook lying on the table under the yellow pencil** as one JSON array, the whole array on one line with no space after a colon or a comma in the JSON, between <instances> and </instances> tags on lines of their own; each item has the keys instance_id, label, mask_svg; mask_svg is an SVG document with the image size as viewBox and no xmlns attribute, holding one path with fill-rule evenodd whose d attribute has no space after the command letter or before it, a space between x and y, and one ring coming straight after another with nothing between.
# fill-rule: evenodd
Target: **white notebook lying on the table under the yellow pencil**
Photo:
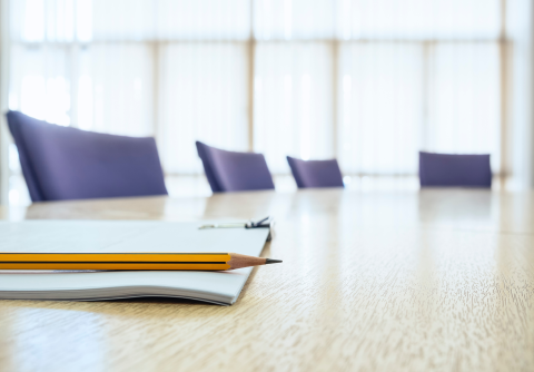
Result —
<instances>
[{"instance_id":1,"label":"white notebook lying on the table under the yellow pencil","mask_svg":"<svg viewBox=\"0 0 534 372\"><path fill-rule=\"evenodd\" d=\"M0 222L1 252L231 252L259 256L268 228L198 229L201 222ZM228 272L0 271L0 298L192 298L230 305L253 267Z\"/></svg>"}]
</instances>

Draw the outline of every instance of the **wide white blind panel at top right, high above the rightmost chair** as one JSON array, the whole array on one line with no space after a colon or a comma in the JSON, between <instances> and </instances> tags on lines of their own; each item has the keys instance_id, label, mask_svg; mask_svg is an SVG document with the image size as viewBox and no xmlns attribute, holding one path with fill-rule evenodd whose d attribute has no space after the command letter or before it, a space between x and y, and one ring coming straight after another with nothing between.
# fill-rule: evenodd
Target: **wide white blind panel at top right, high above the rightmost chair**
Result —
<instances>
[{"instance_id":1,"label":"wide white blind panel at top right, high above the rightmost chair","mask_svg":"<svg viewBox=\"0 0 534 372\"><path fill-rule=\"evenodd\" d=\"M338 0L342 39L496 39L501 0Z\"/></svg>"}]
</instances>

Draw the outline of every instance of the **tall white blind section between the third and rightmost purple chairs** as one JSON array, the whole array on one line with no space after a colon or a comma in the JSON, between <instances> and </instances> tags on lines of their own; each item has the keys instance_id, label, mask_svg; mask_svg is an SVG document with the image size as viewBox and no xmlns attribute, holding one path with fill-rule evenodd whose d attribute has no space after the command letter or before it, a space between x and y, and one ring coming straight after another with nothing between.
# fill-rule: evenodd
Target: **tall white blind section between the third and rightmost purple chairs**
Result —
<instances>
[{"instance_id":1,"label":"tall white blind section between the third and rightmost purple chairs","mask_svg":"<svg viewBox=\"0 0 534 372\"><path fill-rule=\"evenodd\" d=\"M340 52L338 157L348 173L415 174L424 125L417 43L349 43Z\"/></svg>"}]
</instances>

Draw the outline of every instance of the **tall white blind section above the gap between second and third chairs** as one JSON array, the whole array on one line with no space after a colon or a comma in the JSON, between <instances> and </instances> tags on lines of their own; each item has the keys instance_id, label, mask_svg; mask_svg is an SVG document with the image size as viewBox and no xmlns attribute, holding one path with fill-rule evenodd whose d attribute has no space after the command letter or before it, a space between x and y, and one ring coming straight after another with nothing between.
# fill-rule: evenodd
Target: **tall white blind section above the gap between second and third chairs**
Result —
<instances>
[{"instance_id":1,"label":"tall white blind section above the gap between second and third chairs","mask_svg":"<svg viewBox=\"0 0 534 372\"><path fill-rule=\"evenodd\" d=\"M254 147L270 170L287 173L286 155L334 157L330 46L266 42L255 57Z\"/></svg>"}]
</instances>

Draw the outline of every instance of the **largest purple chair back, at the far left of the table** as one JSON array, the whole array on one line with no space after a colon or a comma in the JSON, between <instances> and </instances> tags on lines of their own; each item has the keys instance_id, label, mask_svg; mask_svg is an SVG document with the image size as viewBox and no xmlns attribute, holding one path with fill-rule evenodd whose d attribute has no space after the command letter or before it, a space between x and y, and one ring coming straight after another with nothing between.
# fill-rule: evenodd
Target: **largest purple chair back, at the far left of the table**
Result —
<instances>
[{"instance_id":1,"label":"largest purple chair back, at the far left of the table","mask_svg":"<svg viewBox=\"0 0 534 372\"><path fill-rule=\"evenodd\" d=\"M154 138L97 134L9 111L32 202L167 195Z\"/></svg>"}]
</instances>

